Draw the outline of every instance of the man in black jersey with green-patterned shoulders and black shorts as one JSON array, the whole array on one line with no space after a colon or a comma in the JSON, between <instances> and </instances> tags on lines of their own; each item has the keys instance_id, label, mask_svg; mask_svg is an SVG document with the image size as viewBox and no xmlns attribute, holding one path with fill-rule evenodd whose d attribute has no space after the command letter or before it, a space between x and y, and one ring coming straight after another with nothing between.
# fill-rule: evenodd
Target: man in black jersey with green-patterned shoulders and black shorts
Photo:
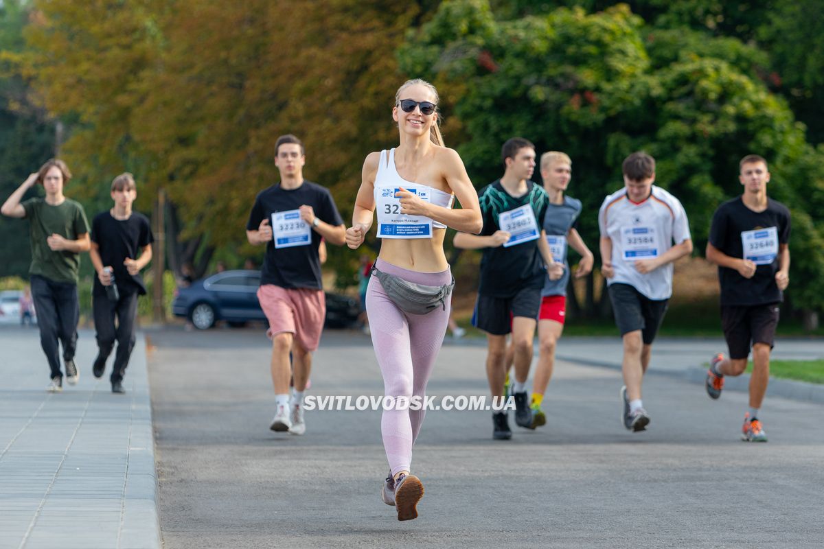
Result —
<instances>
[{"instance_id":1,"label":"man in black jersey with green-patterned shoulders and black shorts","mask_svg":"<svg viewBox=\"0 0 824 549\"><path fill-rule=\"evenodd\" d=\"M552 260L541 227L549 197L530 180L535 170L535 146L513 137L503 144L501 179L478 193L484 227L480 235L458 233L456 248L483 249L480 286L472 324L486 332L486 375L492 396L504 396L507 334L512 333L514 350L515 422L534 429L527 398L527 378L532 363L532 338L541 309L541 288L550 265L550 277L560 278L563 267ZM512 437L507 413L492 414L493 438Z\"/></svg>"}]
</instances>

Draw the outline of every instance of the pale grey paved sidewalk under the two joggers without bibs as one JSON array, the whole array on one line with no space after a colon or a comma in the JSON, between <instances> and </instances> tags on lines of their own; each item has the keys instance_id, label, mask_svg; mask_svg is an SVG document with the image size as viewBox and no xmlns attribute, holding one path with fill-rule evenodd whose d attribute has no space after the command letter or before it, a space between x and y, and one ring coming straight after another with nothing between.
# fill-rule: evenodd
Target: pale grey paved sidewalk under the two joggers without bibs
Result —
<instances>
[{"instance_id":1,"label":"pale grey paved sidewalk under the two joggers without bibs","mask_svg":"<svg viewBox=\"0 0 824 549\"><path fill-rule=\"evenodd\" d=\"M138 334L125 395L91 375L94 333L80 333L80 382L47 393L36 328L0 328L0 548L152 549L157 519L146 345Z\"/></svg>"}]
</instances>

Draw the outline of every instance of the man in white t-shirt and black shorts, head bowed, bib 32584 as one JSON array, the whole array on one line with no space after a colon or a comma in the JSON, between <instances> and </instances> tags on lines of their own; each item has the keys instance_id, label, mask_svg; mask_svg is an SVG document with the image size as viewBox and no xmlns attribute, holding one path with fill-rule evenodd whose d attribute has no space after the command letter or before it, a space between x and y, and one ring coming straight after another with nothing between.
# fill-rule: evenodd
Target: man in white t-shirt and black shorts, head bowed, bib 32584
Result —
<instances>
[{"instance_id":1,"label":"man in white t-shirt and black shorts, head bowed, bib 32584","mask_svg":"<svg viewBox=\"0 0 824 549\"><path fill-rule=\"evenodd\" d=\"M641 384L672 295L672 262L692 252L692 240L681 202L653 186L653 157L634 152L622 169L625 187L606 197L598 212L601 270L624 341L621 422L640 431L649 423Z\"/></svg>"}]
</instances>

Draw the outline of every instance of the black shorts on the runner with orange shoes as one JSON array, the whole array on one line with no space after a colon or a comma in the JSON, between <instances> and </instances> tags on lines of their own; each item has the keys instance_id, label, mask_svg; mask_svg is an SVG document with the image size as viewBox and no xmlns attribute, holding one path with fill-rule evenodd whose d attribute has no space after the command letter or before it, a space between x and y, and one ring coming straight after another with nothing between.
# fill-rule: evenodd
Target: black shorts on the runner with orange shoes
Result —
<instances>
[{"instance_id":1,"label":"black shorts on the runner with orange shoes","mask_svg":"<svg viewBox=\"0 0 824 549\"><path fill-rule=\"evenodd\" d=\"M779 304L721 305L721 326L730 358L747 358L756 343L773 347Z\"/></svg>"}]
</instances>

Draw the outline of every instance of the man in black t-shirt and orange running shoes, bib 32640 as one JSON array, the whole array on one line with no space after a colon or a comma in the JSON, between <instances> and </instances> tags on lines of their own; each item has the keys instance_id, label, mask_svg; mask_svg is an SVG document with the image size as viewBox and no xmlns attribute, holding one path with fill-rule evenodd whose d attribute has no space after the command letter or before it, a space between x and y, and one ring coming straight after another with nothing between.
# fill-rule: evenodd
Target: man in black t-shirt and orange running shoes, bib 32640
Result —
<instances>
[{"instance_id":1,"label":"man in black t-shirt and orange running shoes, bib 32640","mask_svg":"<svg viewBox=\"0 0 824 549\"><path fill-rule=\"evenodd\" d=\"M747 369L752 347L750 409L742 439L766 442L759 409L770 380L770 351L782 291L789 285L789 210L767 198L770 181L761 156L745 156L738 179L744 193L724 202L713 216L707 259L719 266L721 321L729 357L714 356L707 371L710 398L719 398L725 375Z\"/></svg>"}]
</instances>

